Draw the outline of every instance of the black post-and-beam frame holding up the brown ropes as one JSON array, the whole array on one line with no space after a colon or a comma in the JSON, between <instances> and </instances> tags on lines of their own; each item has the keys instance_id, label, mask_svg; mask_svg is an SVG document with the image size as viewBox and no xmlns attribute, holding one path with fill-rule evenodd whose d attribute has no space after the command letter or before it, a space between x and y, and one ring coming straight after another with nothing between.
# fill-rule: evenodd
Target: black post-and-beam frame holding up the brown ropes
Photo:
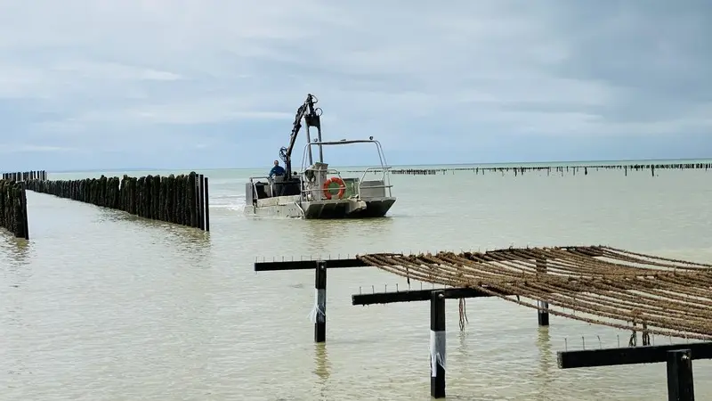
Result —
<instances>
[{"instance_id":1,"label":"black post-and-beam frame holding up the brown ropes","mask_svg":"<svg viewBox=\"0 0 712 401\"><path fill-rule=\"evenodd\" d=\"M595 247L566 247L567 250L590 253L595 256L600 250ZM488 252L492 258L506 260L516 258L506 250ZM284 260L255 262L255 272L280 270L314 270L315 272L315 307L312 311L314 321L314 341L326 341L326 301L327 301L327 271L331 268L366 267L367 263L360 258L336 258L319 260ZM546 268L546 264L542 266ZM486 291L483 291L486 290ZM468 299L495 296L518 296L493 291L486 287L473 288L442 288L420 289L408 291L384 291L352 294L352 305L375 305L396 302L429 301L431 316L430 340L430 372L431 396L445 397L446 381L446 340L445 340L445 300ZM540 301L538 304L538 325L549 325L548 304ZM643 334L645 329L643 328ZM644 342L644 341L643 341ZM558 352L558 364L561 369L609 366L619 364L649 364L667 363L668 400L693 401L694 389L692 381L692 360L712 359L712 341L690 344L674 344L667 346L604 348L578 351Z\"/></svg>"}]
</instances>

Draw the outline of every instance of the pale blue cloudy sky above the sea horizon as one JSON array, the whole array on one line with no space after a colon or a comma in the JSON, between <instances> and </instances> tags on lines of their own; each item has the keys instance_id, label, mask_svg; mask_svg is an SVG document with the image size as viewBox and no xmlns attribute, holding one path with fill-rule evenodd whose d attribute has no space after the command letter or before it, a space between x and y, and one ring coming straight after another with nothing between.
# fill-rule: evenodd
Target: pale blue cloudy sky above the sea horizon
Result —
<instances>
[{"instance_id":1,"label":"pale blue cloudy sky above the sea horizon","mask_svg":"<svg viewBox=\"0 0 712 401\"><path fill-rule=\"evenodd\" d=\"M310 93L325 140L373 135L392 165L707 158L709 20L708 0L0 0L0 170L270 168Z\"/></svg>"}]
</instances>

